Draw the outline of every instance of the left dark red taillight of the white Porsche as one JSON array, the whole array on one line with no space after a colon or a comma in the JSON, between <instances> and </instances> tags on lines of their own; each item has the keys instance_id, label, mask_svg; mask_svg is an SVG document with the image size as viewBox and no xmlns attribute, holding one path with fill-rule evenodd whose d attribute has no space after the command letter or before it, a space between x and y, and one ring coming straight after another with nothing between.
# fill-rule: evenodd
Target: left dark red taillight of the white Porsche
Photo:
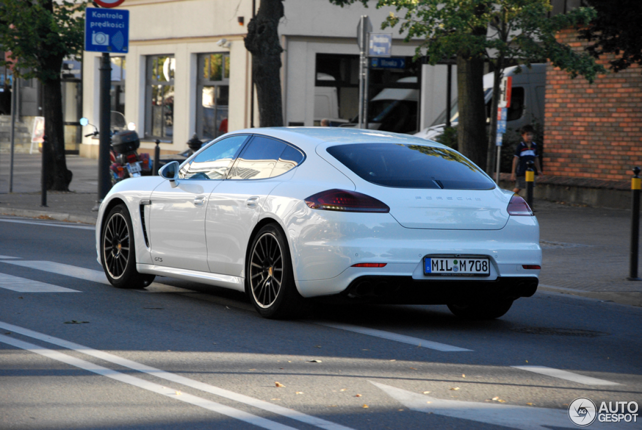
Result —
<instances>
[{"instance_id":1,"label":"left dark red taillight of the white Porsche","mask_svg":"<svg viewBox=\"0 0 642 430\"><path fill-rule=\"evenodd\" d=\"M347 191L345 189L329 189L313 194L305 199L311 209L342 212L380 212L388 213L390 208L374 197Z\"/></svg>"}]
</instances>

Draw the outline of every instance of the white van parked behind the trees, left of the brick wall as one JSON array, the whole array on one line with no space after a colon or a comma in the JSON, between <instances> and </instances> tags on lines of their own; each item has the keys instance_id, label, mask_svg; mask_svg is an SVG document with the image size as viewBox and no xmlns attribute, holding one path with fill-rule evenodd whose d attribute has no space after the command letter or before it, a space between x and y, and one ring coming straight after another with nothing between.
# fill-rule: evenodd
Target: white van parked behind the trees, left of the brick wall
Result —
<instances>
[{"instance_id":1,"label":"white van parked behind the trees, left of the brick wall","mask_svg":"<svg viewBox=\"0 0 642 430\"><path fill-rule=\"evenodd\" d=\"M546 90L546 64L532 64L528 69L522 65L522 71L515 73L517 66L504 69L503 76L512 76L512 93L510 96L510 107L507 111L506 127L512 130L519 130L522 126L537 123L544 123L544 92ZM490 123L490 99L492 98L493 73L483 76L484 99L486 103L487 120ZM451 125L455 126L459 119L457 99L451 104L450 113ZM424 139L435 139L444 133L446 128L446 110L437 117L431 126L424 128L415 136Z\"/></svg>"}]
</instances>

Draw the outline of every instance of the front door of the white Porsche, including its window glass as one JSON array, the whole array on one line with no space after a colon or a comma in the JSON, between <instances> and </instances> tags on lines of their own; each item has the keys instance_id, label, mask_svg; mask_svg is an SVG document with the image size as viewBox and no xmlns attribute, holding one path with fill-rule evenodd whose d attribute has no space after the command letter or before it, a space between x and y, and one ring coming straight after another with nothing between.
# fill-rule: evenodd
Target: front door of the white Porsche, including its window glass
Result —
<instances>
[{"instance_id":1,"label":"front door of the white Porsche, including its window glass","mask_svg":"<svg viewBox=\"0 0 642 430\"><path fill-rule=\"evenodd\" d=\"M209 271L205 213L210 194L222 182L248 135L216 141L152 192L150 249L159 266Z\"/></svg>"}]
</instances>

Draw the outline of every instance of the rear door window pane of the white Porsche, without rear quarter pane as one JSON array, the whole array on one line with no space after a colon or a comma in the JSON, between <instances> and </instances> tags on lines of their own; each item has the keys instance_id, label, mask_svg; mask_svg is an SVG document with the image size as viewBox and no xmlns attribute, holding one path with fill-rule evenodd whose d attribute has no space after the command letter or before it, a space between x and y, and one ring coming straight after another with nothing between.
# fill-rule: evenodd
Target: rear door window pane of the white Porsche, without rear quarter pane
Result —
<instances>
[{"instance_id":1,"label":"rear door window pane of the white Porsche, without rear quarter pane","mask_svg":"<svg viewBox=\"0 0 642 430\"><path fill-rule=\"evenodd\" d=\"M272 175L286 144L255 136L239 155L228 179L263 179Z\"/></svg>"}]
</instances>

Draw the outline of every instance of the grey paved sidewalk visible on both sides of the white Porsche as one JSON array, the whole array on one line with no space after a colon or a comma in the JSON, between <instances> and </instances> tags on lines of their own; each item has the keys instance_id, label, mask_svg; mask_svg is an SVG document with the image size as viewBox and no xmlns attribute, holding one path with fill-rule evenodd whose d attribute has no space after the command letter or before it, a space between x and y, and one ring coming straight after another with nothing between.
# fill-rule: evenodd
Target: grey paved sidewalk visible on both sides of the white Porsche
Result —
<instances>
[{"instance_id":1,"label":"grey paved sidewalk visible on both sides of the white Porsche","mask_svg":"<svg viewBox=\"0 0 642 430\"><path fill-rule=\"evenodd\" d=\"M74 192L50 191L48 207L42 208L40 156L16 154L13 194L6 194L8 156L0 157L0 214L96 223L91 211L97 198L96 160L67 156ZM629 210L535 200L535 211L543 254L539 290L642 306L642 282L626 280ZM642 275L642 266L638 271Z\"/></svg>"}]
</instances>

